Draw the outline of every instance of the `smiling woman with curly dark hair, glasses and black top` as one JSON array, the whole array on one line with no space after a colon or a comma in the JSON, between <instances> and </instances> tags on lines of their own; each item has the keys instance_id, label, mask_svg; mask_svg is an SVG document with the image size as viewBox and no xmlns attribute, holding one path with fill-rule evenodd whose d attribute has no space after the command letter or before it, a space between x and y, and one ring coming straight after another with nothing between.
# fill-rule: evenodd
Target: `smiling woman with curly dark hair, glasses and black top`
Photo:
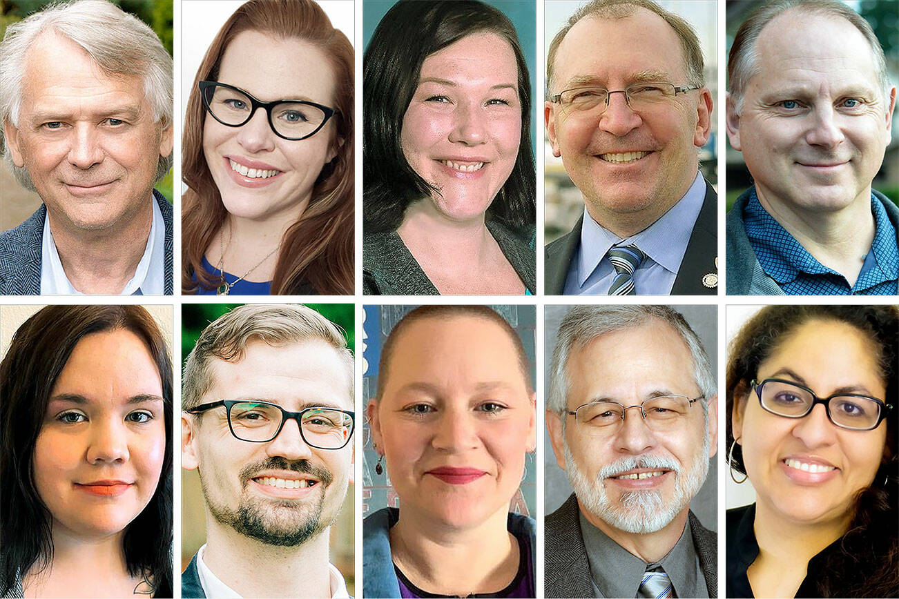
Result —
<instances>
[{"instance_id":1,"label":"smiling woman with curly dark hair, glasses and black top","mask_svg":"<svg viewBox=\"0 0 899 599\"><path fill-rule=\"evenodd\" d=\"M772 305L727 357L728 597L899 596L899 309ZM820 405L819 405L820 404Z\"/></svg>"}]
</instances>

